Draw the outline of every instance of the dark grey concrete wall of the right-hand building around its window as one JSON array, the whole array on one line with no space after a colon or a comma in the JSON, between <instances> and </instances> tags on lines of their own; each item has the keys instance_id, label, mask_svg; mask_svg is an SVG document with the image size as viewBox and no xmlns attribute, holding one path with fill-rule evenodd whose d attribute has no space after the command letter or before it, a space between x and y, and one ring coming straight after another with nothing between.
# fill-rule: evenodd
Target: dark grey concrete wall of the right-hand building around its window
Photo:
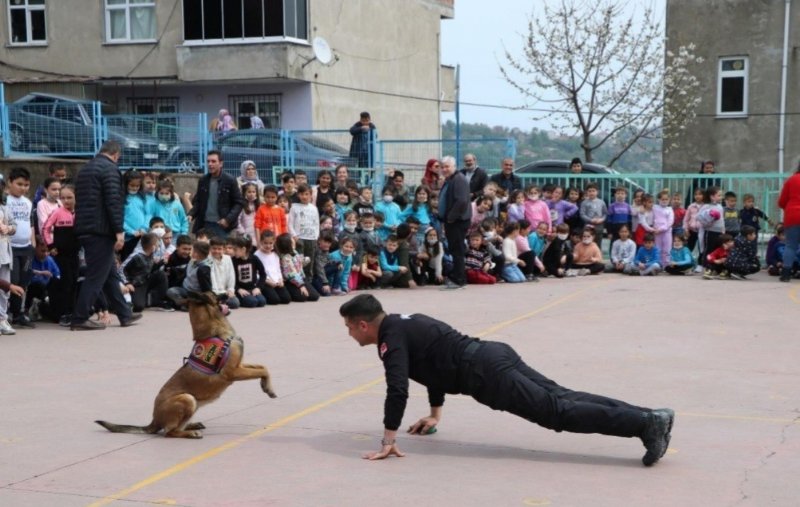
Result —
<instances>
[{"instance_id":1,"label":"dark grey concrete wall of the right-hand building around its window","mask_svg":"<svg viewBox=\"0 0 800 507\"><path fill-rule=\"evenodd\" d=\"M709 20L698 23L697 20ZM705 61L695 75L701 80L698 118L678 137L679 147L664 153L665 172L699 170L711 159L722 172L778 170L778 125L783 47L784 3L753 0L668 0L668 48L694 43ZM792 10L789 43L787 111L800 111L800 9ZM749 59L748 116L716 116L720 57ZM787 116L785 171L800 157L800 120Z\"/></svg>"}]
</instances>

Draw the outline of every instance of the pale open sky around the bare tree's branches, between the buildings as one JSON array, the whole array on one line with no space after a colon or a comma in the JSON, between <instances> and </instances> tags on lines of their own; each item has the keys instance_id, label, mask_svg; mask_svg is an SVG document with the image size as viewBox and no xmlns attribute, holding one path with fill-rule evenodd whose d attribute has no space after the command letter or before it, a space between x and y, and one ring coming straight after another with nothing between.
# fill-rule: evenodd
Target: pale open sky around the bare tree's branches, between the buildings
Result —
<instances>
[{"instance_id":1,"label":"pale open sky around the bare tree's branches, between the buildings","mask_svg":"<svg viewBox=\"0 0 800 507\"><path fill-rule=\"evenodd\" d=\"M664 12L666 0L630 0L628 8L641 10L652 5ZM524 97L500 74L504 47L521 54L528 20L541 0L456 0L455 18L443 19L442 64L461 66L462 123L485 123L530 131L533 127L550 130L546 122L534 122L532 113L493 107L468 106L464 102L508 106L525 105ZM663 24L663 23L662 23ZM455 120L455 113L443 113L442 121Z\"/></svg>"}]
</instances>

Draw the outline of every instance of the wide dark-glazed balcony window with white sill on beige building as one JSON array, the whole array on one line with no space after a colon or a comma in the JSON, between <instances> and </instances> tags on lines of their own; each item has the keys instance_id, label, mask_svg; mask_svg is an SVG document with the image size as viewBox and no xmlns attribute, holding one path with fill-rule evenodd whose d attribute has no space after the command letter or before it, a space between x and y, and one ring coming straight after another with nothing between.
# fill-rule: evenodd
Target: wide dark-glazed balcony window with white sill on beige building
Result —
<instances>
[{"instance_id":1,"label":"wide dark-glazed balcony window with white sill on beige building","mask_svg":"<svg viewBox=\"0 0 800 507\"><path fill-rule=\"evenodd\" d=\"M307 0L183 0L183 36L194 42L308 39Z\"/></svg>"}]
</instances>

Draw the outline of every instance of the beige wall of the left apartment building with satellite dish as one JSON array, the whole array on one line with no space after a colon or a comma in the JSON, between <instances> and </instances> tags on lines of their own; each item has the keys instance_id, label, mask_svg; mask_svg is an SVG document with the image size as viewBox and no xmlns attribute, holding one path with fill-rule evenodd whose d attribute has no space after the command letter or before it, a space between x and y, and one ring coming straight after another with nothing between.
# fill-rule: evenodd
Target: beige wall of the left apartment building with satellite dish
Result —
<instances>
[{"instance_id":1,"label":"beige wall of the left apartment building with satellite dish","mask_svg":"<svg viewBox=\"0 0 800 507\"><path fill-rule=\"evenodd\" d=\"M199 46L183 43L181 0L156 3L158 44L105 43L102 6L47 2L48 45L0 45L0 60L18 66L0 66L0 79L99 80L99 94L122 105L120 88L138 80L145 94L155 86L160 96L179 96L181 112L209 115L227 107L228 95L281 93L283 128L349 128L367 110L382 138L439 137L440 23L452 16L452 0L309 0L309 43ZM4 5L4 42L7 17ZM316 36L332 47L331 65L312 61ZM444 82L452 86L447 76Z\"/></svg>"}]
</instances>

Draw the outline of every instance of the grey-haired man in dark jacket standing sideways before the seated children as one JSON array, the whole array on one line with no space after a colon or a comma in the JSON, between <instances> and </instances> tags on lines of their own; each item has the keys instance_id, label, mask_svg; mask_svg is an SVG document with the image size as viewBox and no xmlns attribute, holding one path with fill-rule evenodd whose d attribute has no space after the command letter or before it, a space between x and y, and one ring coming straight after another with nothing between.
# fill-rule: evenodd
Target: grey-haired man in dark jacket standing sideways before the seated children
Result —
<instances>
[{"instance_id":1,"label":"grey-haired man in dark jacket standing sideways before the seated children","mask_svg":"<svg viewBox=\"0 0 800 507\"><path fill-rule=\"evenodd\" d=\"M456 171L456 159L442 158L444 184L439 191L439 219L444 225L447 248L453 257L453 271L443 289L461 289L467 284L464 261L467 255L467 231L472 218L467 178Z\"/></svg>"}]
</instances>

